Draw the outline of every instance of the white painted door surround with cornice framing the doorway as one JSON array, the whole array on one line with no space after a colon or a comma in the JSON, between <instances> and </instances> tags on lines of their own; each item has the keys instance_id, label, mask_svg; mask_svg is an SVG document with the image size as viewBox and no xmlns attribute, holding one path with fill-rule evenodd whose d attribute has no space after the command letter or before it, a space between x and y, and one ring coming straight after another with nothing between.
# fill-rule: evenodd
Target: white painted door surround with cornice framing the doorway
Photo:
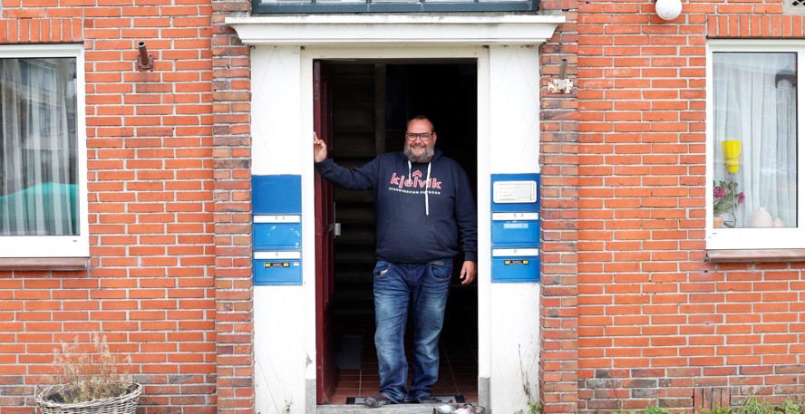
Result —
<instances>
[{"instance_id":1,"label":"white painted door surround with cornice framing the doorway","mask_svg":"<svg viewBox=\"0 0 805 414\"><path fill-rule=\"evenodd\" d=\"M258 389L258 409L268 409L269 400L282 398L293 400L295 404L290 413L315 412L315 387L305 388L304 395L298 392L298 385L315 384L315 217L314 217L314 168L311 135L313 130L313 61L316 59L332 60L374 60L374 59L474 59L478 68L478 315L479 315L479 385L487 386L481 395L484 405L495 405L503 411L527 409L522 400L522 384L519 383L520 367L523 361L528 366L529 378L533 377L537 384L538 363L538 298L539 284L491 284L491 186L490 175L496 173L533 173L538 172L538 157L520 155L515 165L492 163L491 140L493 133L507 139L496 140L496 147L501 142L506 149L514 148L538 154L538 130L534 130L534 122L538 122L538 111L533 106L535 83L539 79L539 43L551 37L554 30L564 22L563 16L444 16L435 15L338 15L338 16L278 16L254 18L228 18L241 36L244 43L257 45L253 57L260 55L270 57L263 59L284 69L291 88L282 90L286 99L286 111L267 111L266 102L255 100L253 103L253 125L257 118L269 117L267 125L272 121L282 122L286 126L285 137L298 137L297 140L285 140L289 151L301 161L300 166L289 163L286 168L300 170L302 175L302 297L296 303L301 307L292 310L298 315L301 323L293 332L288 330L284 335L298 338L303 344L305 361L293 360L294 364L303 363L304 368L292 370L289 367L277 369L276 375L289 384L288 393L282 390ZM493 44L495 43L495 44ZM383 47L377 47L382 45ZM513 46L519 46L517 48ZM516 49L516 50L515 50ZM518 54L519 53L519 54ZM514 56L517 59L512 59ZM274 62L277 59L277 62ZM522 61L522 62L521 62ZM252 61L252 73L262 79L260 67ZM523 68L521 63L527 63ZM281 64L280 64L281 63ZM509 63L511 63L509 65ZM529 82L523 85L517 82L503 82L509 76L508 71L519 72L518 79ZM257 73L257 75L255 74ZM298 76L298 77L297 77ZM298 81L298 82L297 82ZM506 91L497 91L499 86ZM296 91L298 91L298 96ZM253 93L256 85L253 84ZM263 91L259 89L259 91ZM505 101L507 97L517 98L515 103ZM496 107L495 103L501 103ZM509 114L512 105L518 106L528 102L528 111L517 111ZM298 116L296 116L298 115ZM269 134L270 135L270 134ZM274 140L266 140L265 148L260 147L264 141L255 142L255 151L286 149L279 147ZM254 168L257 168L253 165ZM277 171L285 169L275 168ZM485 189L486 188L486 189ZM264 288L261 286L260 288ZM275 289L275 286L266 286ZM256 287L257 291L257 287ZM273 292L273 291L272 291ZM293 291L296 293L296 291ZM516 293L516 294L513 294ZM515 302L512 297L517 297ZM257 308L257 306L256 306ZM290 309L290 308L289 308ZM527 313L534 319L531 326L536 331L523 330L521 326L511 332L502 332L504 323L520 323L520 313ZM255 313L256 330L276 324L273 315L257 311ZM281 318L278 318L281 319ZM531 321L529 321L531 322ZM506 325L509 326L508 324ZM508 331L512 331L507 328ZM505 333L505 335L504 335ZM498 342L495 341L496 334ZM298 335L298 336L297 336ZM504 337L505 336L505 337ZM263 340L265 341L265 340ZM256 340L256 350L266 344ZM505 349L501 348L504 346ZM524 353L519 353L523 351ZM277 351L278 352L278 351ZM281 358L281 352L265 354L257 357L256 363L270 362L272 358ZM493 366L492 361L497 363ZM505 360L505 361L504 361ZM262 365L261 365L262 366ZM287 370L287 371L283 371ZM301 378L300 378L301 377ZM290 387L293 385L293 387ZM293 390L291 390L293 389ZM495 389L492 392L490 389ZM496 397L493 397L495 394ZM492 400L497 400L496 404Z\"/></svg>"}]
</instances>

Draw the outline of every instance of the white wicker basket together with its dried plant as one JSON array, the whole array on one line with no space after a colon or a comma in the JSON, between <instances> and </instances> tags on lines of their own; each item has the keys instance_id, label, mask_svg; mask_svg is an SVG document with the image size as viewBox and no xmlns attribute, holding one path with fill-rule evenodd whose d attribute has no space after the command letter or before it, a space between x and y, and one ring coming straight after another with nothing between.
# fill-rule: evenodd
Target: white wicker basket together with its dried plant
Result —
<instances>
[{"instance_id":1,"label":"white wicker basket together with its dried plant","mask_svg":"<svg viewBox=\"0 0 805 414\"><path fill-rule=\"evenodd\" d=\"M141 384L131 381L118 356L109 350L106 337L92 334L88 347L78 340L63 343L56 350L56 361L63 367L63 382L36 394L43 414L115 413L133 414L142 392Z\"/></svg>"}]
</instances>

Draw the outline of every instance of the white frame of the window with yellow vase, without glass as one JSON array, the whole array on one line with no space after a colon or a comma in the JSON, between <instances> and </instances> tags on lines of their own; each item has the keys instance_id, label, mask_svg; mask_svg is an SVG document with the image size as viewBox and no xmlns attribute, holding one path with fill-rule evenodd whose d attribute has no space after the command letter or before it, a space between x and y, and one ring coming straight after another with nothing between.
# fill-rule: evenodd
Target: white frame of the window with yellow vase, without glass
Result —
<instances>
[{"instance_id":1,"label":"white frame of the window with yellow vase, without glass","mask_svg":"<svg viewBox=\"0 0 805 414\"><path fill-rule=\"evenodd\" d=\"M805 41L773 39L719 39L706 44L706 248L708 250L762 250L805 248L805 82L797 88L797 226L784 228L713 228L713 53L797 53L798 79L805 81Z\"/></svg>"}]
</instances>

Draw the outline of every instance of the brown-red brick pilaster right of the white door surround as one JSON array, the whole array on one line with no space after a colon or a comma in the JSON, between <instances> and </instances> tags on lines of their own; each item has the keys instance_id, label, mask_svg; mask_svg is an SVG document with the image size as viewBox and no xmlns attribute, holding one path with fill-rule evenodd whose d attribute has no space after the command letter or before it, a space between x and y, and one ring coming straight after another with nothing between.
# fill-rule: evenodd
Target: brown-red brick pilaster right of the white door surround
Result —
<instances>
[{"instance_id":1,"label":"brown-red brick pilaster right of the white door surround","mask_svg":"<svg viewBox=\"0 0 805 414\"><path fill-rule=\"evenodd\" d=\"M577 75L577 0L542 0L540 9L564 13L567 23L540 49L540 222L542 227L538 400L546 413L577 407L577 93L548 93L567 59L567 78Z\"/></svg>"}]
</instances>

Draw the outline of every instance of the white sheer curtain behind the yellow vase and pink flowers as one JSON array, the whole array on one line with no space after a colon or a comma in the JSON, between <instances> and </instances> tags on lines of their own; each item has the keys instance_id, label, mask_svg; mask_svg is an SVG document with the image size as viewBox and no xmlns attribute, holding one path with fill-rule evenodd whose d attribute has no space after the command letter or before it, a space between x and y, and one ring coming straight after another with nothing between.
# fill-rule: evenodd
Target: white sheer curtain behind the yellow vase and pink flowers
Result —
<instances>
[{"instance_id":1,"label":"white sheer curtain behind the yellow vase and pink flowers","mask_svg":"<svg viewBox=\"0 0 805 414\"><path fill-rule=\"evenodd\" d=\"M744 193L736 227L797 226L796 72L795 53L713 53L713 177ZM741 141L735 174L724 140Z\"/></svg>"}]
</instances>

